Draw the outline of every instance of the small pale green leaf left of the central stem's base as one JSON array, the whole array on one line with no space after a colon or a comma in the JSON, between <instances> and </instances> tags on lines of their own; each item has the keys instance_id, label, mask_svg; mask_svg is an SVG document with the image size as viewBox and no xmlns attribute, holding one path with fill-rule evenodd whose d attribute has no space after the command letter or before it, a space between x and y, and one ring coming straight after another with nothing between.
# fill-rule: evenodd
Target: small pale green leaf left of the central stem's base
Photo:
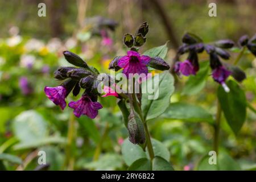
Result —
<instances>
[{"instance_id":1,"label":"small pale green leaf left of the central stem's base","mask_svg":"<svg viewBox=\"0 0 256 182\"><path fill-rule=\"evenodd\" d=\"M129 139L125 139L122 144L122 155L127 166L130 166L133 162L135 162L135 160L146 158L146 153L142 150L142 148L131 143Z\"/></svg>"}]
</instances>

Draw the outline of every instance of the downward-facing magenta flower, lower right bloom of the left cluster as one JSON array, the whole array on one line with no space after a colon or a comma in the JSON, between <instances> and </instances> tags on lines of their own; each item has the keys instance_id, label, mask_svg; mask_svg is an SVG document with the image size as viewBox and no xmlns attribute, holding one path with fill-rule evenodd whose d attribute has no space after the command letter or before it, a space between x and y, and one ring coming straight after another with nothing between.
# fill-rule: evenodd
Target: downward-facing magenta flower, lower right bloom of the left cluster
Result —
<instances>
[{"instance_id":1,"label":"downward-facing magenta flower, lower right bloom of the left cluster","mask_svg":"<svg viewBox=\"0 0 256 182\"><path fill-rule=\"evenodd\" d=\"M94 119L98 115L98 110L102 109L100 102L93 102L88 96L82 96L78 101L71 101L68 106L74 109L73 113L77 118L83 114Z\"/></svg>"}]
</instances>

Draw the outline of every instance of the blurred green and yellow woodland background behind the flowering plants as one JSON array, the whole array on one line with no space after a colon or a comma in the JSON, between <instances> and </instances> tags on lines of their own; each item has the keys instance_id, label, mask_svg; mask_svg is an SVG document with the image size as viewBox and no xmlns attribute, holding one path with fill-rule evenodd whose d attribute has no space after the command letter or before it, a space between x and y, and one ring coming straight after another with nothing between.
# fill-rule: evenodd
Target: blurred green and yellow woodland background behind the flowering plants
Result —
<instances>
[{"instance_id":1,"label":"blurred green and yellow woodland background behind the flowering plants","mask_svg":"<svg viewBox=\"0 0 256 182\"><path fill-rule=\"evenodd\" d=\"M46 17L38 16L40 2L46 3ZM208 16L210 2L217 3L217 17ZM73 117L69 108L61 111L44 95L44 86L58 84L53 78L55 69L69 65L62 51L75 52L89 65L109 72L110 60L125 54L123 34L134 33L139 24L147 20L150 32L141 52L170 40L166 61L171 64L181 36L187 31L199 35L205 42L224 38L237 42L243 34L253 36L255 8L253 0L1 1L1 169L40 169L37 160L41 150L47 154L49 166L44 166L45 169L127 169L121 154L127 130L115 98L100 98L104 109L92 121L86 116ZM109 18L112 25L118 23L115 31L98 26L102 17ZM97 34L105 29L113 41L107 46L102 43L102 35ZM231 61L236 56L234 49ZM205 59L206 54L201 54L200 60ZM247 75L241 86L247 101L255 108L256 59L248 53L239 66ZM191 91L187 89L187 80L176 79L171 102L199 106L199 117L183 117L189 109L177 109L172 111L178 115L176 118L161 117L149 123L152 137L168 148L170 162L177 170L197 169L199 160L208 155L213 145L209 115L214 117L216 113L217 84L209 76ZM68 97L68 101L77 98ZM247 110L246 122L236 136L225 118L221 119L221 150L228 152L241 169L256 168L255 121L256 114Z\"/></svg>"}]
</instances>

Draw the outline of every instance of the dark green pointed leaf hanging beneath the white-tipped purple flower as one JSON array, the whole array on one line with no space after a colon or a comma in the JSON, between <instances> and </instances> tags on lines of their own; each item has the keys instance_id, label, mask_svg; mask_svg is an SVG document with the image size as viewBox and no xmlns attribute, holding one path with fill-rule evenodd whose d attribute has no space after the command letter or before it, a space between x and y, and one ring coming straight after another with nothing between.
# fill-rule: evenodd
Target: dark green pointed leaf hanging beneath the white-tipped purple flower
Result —
<instances>
[{"instance_id":1,"label":"dark green pointed leaf hanging beneath the white-tipped purple flower","mask_svg":"<svg viewBox=\"0 0 256 182\"><path fill-rule=\"evenodd\" d=\"M240 86L232 80L227 82L230 92L225 92L222 86L218 87L218 100L224 112L226 121L234 134L240 131L246 118L246 97Z\"/></svg>"}]
</instances>

